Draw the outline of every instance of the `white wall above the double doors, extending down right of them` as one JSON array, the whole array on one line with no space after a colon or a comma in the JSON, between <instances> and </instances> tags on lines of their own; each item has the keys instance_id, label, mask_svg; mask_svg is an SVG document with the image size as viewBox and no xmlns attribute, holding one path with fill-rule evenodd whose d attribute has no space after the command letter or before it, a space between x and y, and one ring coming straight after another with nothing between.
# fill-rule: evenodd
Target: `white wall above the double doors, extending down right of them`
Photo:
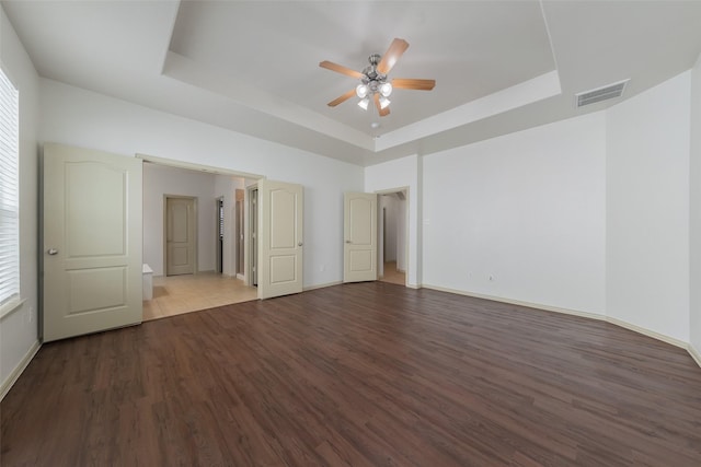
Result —
<instances>
[{"instance_id":1,"label":"white wall above the double doors, extending down right of them","mask_svg":"<svg viewBox=\"0 0 701 467\"><path fill-rule=\"evenodd\" d=\"M363 167L41 80L41 140L264 175L304 186L304 287L343 278L343 192Z\"/></svg>"}]
</instances>

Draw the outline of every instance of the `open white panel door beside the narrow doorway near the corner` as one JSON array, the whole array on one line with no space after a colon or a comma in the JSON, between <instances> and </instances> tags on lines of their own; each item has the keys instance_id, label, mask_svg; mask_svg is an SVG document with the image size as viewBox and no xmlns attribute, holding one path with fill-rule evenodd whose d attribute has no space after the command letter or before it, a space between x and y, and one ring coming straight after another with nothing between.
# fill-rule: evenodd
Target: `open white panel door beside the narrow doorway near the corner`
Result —
<instances>
[{"instance_id":1,"label":"open white panel door beside the narrow doorway near the corner","mask_svg":"<svg viewBox=\"0 0 701 467\"><path fill-rule=\"evenodd\" d=\"M377 280L377 195L344 194L343 281Z\"/></svg>"}]
</instances>

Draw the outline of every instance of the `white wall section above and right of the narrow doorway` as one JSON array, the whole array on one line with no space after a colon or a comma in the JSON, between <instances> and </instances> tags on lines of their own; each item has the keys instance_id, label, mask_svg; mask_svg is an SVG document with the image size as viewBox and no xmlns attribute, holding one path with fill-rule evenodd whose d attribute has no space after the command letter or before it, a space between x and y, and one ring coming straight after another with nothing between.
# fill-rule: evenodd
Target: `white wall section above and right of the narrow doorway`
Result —
<instances>
[{"instance_id":1,"label":"white wall section above and right of the narrow doorway","mask_svg":"<svg viewBox=\"0 0 701 467\"><path fill-rule=\"evenodd\" d=\"M406 187L409 202L409 258L406 258L406 282L421 287L421 157L410 155L365 168L365 191L386 191Z\"/></svg>"}]
</instances>

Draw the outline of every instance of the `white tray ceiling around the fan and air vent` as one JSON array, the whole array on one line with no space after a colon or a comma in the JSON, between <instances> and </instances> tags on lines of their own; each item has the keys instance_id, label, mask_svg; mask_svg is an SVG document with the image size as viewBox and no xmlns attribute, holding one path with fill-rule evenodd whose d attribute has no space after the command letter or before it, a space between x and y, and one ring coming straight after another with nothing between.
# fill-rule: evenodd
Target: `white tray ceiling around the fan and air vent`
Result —
<instances>
[{"instance_id":1,"label":"white tray ceiling around the fan and air vent","mask_svg":"<svg viewBox=\"0 0 701 467\"><path fill-rule=\"evenodd\" d=\"M701 1L2 1L42 77L359 165L562 118L574 94L631 79L629 98L691 68ZM391 114L352 78L394 37ZM380 126L372 128L371 124Z\"/></svg>"}]
</instances>

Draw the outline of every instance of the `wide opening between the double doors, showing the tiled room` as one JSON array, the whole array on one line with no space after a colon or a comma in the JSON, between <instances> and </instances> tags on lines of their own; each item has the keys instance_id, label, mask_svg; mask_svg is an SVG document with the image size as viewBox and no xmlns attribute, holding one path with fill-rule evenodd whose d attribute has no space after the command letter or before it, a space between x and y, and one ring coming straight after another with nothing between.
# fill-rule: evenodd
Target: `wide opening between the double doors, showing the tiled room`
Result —
<instances>
[{"instance_id":1,"label":"wide opening between the double doors, showing the tiled room","mask_svg":"<svg viewBox=\"0 0 701 467\"><path fill-rule=\"evenodd\" d=\"M139 157L145 160L143 264L153 270L152 299L143 301L143 320L255 300L256 289L246 284L248 258L243 245L248 223L243 221L248 210L245 187L260 177L160 157ZM197 259L191 273L168 273L165 195L192 198L198 206L194 215L198 230Z\"/></svg>"}]
</instances>

